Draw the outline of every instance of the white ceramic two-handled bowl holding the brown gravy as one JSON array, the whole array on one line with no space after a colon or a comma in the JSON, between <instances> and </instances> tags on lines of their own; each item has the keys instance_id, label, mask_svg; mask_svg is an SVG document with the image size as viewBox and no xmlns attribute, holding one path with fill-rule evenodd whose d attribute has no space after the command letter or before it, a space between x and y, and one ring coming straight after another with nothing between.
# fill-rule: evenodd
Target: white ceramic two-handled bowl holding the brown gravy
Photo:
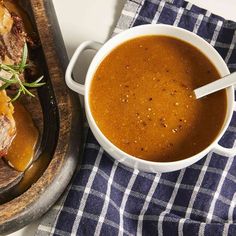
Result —
<instances>
[{"instance_id":1,"label":"white ceramic two-handled bowl holding the brown gravy","mask_svg":"<svg viewBox=\"0 0 236 236\"><path fill-rule=\"evenodd\" d=\"M100 43L93 42L93 41L86 41L82 43L76 49L68 65L68 68L66 71L66 83L70 89L74 90L75 92L79 94L84 95L87 120L94 136L96 137L100 145L117 161L131 168L135 168L135 169L146 171L146 172L170 172L170 171L179 170L197 162L198 160L200 160L202 157L204 157L208 152L212 150L222 155L227 155L227 156L235 155L236 150L234 148L228 149L218 144L218 141L220 140L220 138L226 131L229 125L229 122L231 120L232 114L233 114L233 107L234 107L233 86L227 88L227 114L226 114L224 124L221 130L219 131L219 134L207 148L205 148L204 150L202 150L201 152L199 152L198 154L194 156L188 157L180 161L173 161L173 162L146 161L146 160L142 160L142 159L136 158L134 156L131 156L125 153L124 151L116 147L114 144L112 144L104 136L104 134L96 125L96 122L92 116L90 106L89 106L89 89L91 86L94 73L96 72L99 64L103 61L103 59L118 45L122 44L123 42L129 39L136 38L139 36L145 36L145 35L166 35L166 36L172 36L172 37L181 39L183 41L186 41L192 44L193 46L195 46L196 48L198 48L200 51L202 51L215 65L215 67L218 69L222 77L229 74L229 70L225 62L223 61L221 56L218 54L218 52L210 44L208 44L205 40L203 40L196 34L193 34L187 30L177 28L174 26L142 25L142 26L137 26L137 27L128 29L116 35L115 37L107 41L104 45L101 45ZM73 70L73 67L75 65L77 58L80 56L81 52L86 49L95 49L95 50L98 50L98 52L93 58L89 66L86 80L85 80L85 85L81 85L72 79L71 74L72 74L72 70Z\"/></svg>"}]
</instances>

